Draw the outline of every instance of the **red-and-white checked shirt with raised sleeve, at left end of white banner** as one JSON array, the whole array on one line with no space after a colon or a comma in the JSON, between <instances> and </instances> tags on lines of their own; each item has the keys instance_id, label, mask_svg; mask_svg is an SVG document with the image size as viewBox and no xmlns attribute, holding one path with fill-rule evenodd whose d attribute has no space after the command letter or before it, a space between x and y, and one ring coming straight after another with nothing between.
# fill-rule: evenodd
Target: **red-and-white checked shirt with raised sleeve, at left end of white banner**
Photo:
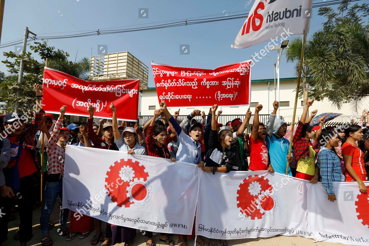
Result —
<instances>
[{"instance_id":1,"label":"red-and-white checked shirt with raised sleeve, at left end of white banner","mask_svg":"<svg viewBox=\"0 0 369 246\"><path fill-rule=\"evenodd\" d=\"M48 158L48 174L61 174L64 172L65 150L58 145L59 132L62 127L64 118L58 118L55 123L54 131L47 143L47 158Z\"/></svg>"}]
</instances>

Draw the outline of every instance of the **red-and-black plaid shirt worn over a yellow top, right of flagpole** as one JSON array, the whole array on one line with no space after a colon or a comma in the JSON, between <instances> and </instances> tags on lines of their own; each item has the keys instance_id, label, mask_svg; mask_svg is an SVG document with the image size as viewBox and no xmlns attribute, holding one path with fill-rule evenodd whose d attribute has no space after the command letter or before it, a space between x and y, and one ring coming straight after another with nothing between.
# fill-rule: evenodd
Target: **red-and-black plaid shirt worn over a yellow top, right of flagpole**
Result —
<instances>
[{"instance_id":1,"label":"red-and-black plaid shirt worn over a yellow top, right of flagpole","mask_svg":"<svg viewBox=\"0 0 369 246\"><path fill-rule=\"evenodd\" d=\"M306 140L302 137L302 128L304 124L301 121L297 124L296 132L293 135L293 146L294 146L294 156L296 156L296 160L300 160L300 157L308 158L310 156L309 146L311 145L315 151L315 153L319 152L320 144L317 141L313 141L311 143L309 140Z\"/></svg>"}]
</instances>

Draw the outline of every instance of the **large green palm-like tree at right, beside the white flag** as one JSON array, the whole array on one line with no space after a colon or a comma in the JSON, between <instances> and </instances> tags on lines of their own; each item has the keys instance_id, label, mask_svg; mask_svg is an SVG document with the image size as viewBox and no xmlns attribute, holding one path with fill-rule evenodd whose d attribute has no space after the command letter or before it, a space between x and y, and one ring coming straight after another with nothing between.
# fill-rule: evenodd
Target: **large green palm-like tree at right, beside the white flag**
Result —
<instances>
[{"instance_id":1,"label":"large green palm-like tree at right, beside the white flag","mask_svg":"<svg viewBox=\"0 0 369 246\"><path fill-rule=\"evenodd\" d=\"M309 86L310 98L327 98L338 109L349 102L356 109L362 98L369 95L369 25L363 22L368 17L369 4L350 7L342 1L337 11L330 7L318 11L327 21L306 42L301 87ZM301 39L293 39L289 46L287 62L296 62L298 69ZM307 94L306 88L300 97L304 92Z\"/></svg>"}]
</instances>

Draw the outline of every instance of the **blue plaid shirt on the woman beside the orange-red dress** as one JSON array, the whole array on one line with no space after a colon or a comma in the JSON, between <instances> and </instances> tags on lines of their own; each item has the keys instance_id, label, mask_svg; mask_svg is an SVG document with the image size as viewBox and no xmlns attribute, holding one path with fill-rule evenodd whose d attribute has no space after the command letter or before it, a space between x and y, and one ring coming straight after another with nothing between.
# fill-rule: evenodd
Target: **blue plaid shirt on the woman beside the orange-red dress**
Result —
<instances>
[{"instance_id":1,"label":"blue plaid shirt on the woman beside the orange-red dress","mask_svg":"<svg viewBox=\"0 0 369 246\"><path fill-rule=\"evenodd\" d=\"M325 186L327 194L334 194L333 182L345 181L345 176L341 169L341 160L338 158L336 152L321 146L317 161L320 169L319 181Z\"/></svg>"}]
</instances>

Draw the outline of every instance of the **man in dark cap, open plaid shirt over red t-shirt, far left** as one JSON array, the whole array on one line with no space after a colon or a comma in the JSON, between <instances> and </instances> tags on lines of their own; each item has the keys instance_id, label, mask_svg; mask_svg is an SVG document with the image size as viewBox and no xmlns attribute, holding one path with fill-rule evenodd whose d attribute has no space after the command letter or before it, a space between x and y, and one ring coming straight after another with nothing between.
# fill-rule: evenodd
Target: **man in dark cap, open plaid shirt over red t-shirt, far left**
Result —
<instances>
[{"instance_id":1,"label":"man in dark cap, open plaid shirt over red t-shirt, far left","mask_svg":"<svg viewBox=\"0 0 369 246\"><path fill-rule=\"evenodd\" d=\"M20 245L25 246L32 238L32 200L33 174L38 170L37 149L35 135L42 122L41 108L43 89L34 84L36 92L35 114L30 123L19 113L8 113L4 116L3 126L7 139L11 144L11 154L8 166L4 169L7 194L0 198L0 208L4 216L0 216L0 245L7 240L8 219L14 206L15 195L18 197L18 211L20 216ZM46 117L45 117L46 119Z\"/></svg>"}]
</instances>

